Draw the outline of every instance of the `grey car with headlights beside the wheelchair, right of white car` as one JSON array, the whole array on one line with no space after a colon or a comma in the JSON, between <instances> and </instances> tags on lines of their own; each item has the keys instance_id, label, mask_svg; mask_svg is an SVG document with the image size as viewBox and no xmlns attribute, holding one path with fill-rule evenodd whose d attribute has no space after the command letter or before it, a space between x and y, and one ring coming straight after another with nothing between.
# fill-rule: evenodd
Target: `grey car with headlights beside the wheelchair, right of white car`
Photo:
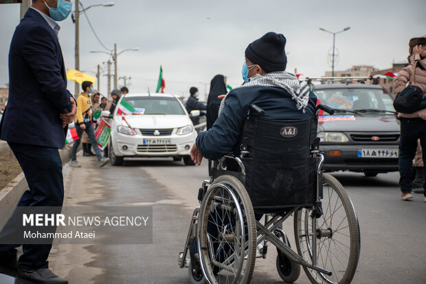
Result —
<instances>
[{"instance_id":1,"label":"grey car with headlights beside the wheelchair, right of white car","mask_svg":"<svg viewBox=\"0 0 426 284\"><path fill-rule=\"evenodd\" d=\"M335 109L318 124L324 171L354 171L366 176L398 171L400 126L394 97L379 85L314 85L323 105Z\"/></svg>"}]
</instances>

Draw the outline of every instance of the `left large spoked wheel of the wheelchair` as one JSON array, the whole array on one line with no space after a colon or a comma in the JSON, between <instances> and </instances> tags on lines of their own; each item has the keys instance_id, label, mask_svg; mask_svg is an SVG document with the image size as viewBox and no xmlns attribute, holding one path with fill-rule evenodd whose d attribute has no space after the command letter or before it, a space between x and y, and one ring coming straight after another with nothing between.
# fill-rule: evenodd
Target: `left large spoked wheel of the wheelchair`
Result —
<instances>
[{"instance_id":1,"label":"left large spoked wheel of the wheelchair","mask_svg":"<svg viewBox=\"0 0 426 284\"><path fill-rule=\"evenodd\" d=\"M256 261L256 219L243 184L214 180L199 212L199 252L209 283L249 283Z\"/></svg>"}]
</instances>

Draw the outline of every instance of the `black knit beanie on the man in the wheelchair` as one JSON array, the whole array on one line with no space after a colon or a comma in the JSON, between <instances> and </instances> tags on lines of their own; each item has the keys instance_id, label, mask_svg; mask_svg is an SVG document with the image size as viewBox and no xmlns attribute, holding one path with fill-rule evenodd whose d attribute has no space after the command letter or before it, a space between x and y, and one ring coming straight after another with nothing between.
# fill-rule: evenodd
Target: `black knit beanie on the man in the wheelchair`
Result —
<instances>
[{"instance_id":1,"label":"black knit beanie on the man in the wheelchair","mask_svg":"<svg viewBox=\"0 0 426 284\"><path fill-rule=\"evenodd\" d=\"M252 63L265 69L265 72L284 71L287 66L284 50L286 42L282 34L267 32L247 46L245 56Z\"/></svg>"}]
</instances>

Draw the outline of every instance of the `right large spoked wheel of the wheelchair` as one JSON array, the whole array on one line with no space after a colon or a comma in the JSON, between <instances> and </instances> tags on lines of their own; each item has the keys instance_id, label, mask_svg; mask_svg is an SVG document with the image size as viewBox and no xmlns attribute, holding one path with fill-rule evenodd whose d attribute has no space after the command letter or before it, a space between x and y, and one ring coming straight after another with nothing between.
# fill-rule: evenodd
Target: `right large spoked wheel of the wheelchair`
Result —
<instances>
[{"instance_id":1,"label":"right large spoked wheel of the wheelchair","mask_svg":"<svg viewBox=\"0 0 426 284\"><path fill-rule=\"evenodd\" d=\"M312 210L295 212L294 231L298 253L311 263L313 238L316 239L316 263L332 272L331 276L303 267L312 283L350 283L357 269L360 236L355 209L343 186L331 175L324 174L322 209L324 214L312 219ZM312 232L316 222L315 233Z\"/></svg>"}]
</instances>

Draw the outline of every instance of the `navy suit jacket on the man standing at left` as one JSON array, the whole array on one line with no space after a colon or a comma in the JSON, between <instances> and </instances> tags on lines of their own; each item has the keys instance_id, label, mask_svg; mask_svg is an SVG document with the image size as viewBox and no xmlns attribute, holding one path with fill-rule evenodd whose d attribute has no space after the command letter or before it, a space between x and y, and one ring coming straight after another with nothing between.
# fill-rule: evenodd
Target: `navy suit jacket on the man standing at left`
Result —
<instances>
[{"instance_id":1,"label":"navy suit jacket on the man standing at left","mask_svg":"<svg viewBox=\"0 0 426 284\"><path fill-rule=\"evenodd\" d=\"M58 37L32 8L16 27L9 50L8 106L1 140L63 148L67 128L60 113L71 111Z\"/></svg>"}]
</instances>

